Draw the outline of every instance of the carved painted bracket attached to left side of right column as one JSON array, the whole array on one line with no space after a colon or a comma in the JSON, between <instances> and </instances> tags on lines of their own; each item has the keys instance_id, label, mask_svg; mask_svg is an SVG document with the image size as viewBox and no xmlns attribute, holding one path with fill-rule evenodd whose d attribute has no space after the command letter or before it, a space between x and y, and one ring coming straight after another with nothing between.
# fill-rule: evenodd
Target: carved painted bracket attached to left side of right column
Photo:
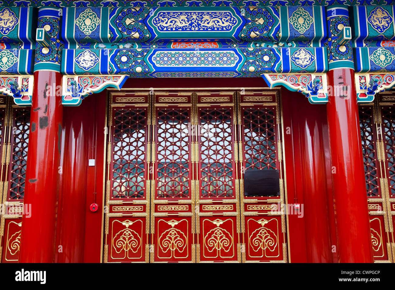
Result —
<instances>
[{"instance_id":1,"label":"carved painted bracket attached to left side of right column","mask_svg":"<svg viewBox=\"0 0 395 290\"><path fill-rule=\"evenodd\" d=\"M263 73L261 75L270 88L284 86L293 92L301 92L312 104L328 102L327 78L325 73Z\"/></svg>"}]
</instances>

